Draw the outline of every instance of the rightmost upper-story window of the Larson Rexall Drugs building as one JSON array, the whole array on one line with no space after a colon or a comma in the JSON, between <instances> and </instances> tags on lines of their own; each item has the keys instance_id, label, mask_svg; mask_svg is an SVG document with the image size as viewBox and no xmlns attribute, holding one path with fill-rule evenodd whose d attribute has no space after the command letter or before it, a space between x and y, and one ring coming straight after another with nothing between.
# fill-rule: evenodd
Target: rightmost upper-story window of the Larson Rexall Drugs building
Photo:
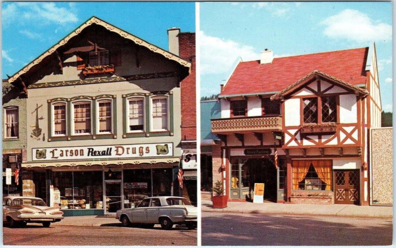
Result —
<instances>
[{"instance_id":1,"label":"rightmost upper-story window of the Larson Rexall Drugs building","mask_svg":"<svg viewBox=\"0 0 396 248\"><path fill-rule=\"evenodd\" d=\"M151 129L153 131L168 130L168 98L151 99Z\"/></svg>"}]
</instances>

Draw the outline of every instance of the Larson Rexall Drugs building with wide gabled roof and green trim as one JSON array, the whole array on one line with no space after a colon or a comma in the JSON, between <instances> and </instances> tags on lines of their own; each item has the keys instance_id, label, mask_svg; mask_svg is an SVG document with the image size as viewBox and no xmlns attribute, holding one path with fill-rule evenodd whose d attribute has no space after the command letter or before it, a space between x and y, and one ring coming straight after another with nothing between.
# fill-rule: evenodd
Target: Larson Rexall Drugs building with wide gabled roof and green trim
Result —
<instances>
[{"instance_id":1,"label":"Larson Rexall Drugs building with wide gabled roof and green trim","mask_svg":"<svg viewBox=\"0 0 396 248\"><path fill-rule=\"evenodd\" d=\"M92 17L15 73L8 82L28 95L23 195L65 215L181 195L180 84L190 72L191 62Z\"/></svg>"}]
</instances>

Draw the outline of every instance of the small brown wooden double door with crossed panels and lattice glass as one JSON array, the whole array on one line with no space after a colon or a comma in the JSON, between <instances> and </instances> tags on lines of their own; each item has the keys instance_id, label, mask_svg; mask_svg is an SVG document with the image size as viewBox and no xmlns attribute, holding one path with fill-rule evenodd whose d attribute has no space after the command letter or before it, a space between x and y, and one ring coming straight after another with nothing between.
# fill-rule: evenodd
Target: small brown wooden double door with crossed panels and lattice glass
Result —
<instances>
[{"instance_id":1,"label":"small brown wooden double door with crossed panels and lattice glass","mask_svg":"<svg viewBox=\"0 0 396 248\"><path fill-rule=\"evenodd\" d=\"M335 203L359 204L359 170L335 170Z\"/></svg>"}]
</instances>

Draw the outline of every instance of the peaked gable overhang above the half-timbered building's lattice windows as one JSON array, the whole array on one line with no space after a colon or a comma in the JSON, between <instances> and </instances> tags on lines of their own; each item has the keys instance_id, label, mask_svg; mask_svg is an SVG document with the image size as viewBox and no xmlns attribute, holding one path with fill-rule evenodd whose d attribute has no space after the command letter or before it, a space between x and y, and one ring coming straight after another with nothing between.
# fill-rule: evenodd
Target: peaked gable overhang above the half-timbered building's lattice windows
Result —
<instances>
[{"instance_id":1,"label":"peaked gable overhang above the half-timbered building's lattice windows","mask_svg":"<svg viewBox=\"0 0 396 248\"><path fill-rule=\"evenodd\" d=\"M345 82L339 78L336 78L334 76L331 76L327 73L324 73L320 70L313 70L312 72L308 73L306 76L302 77L301 79L299 79L298 81L296 81L295 83L291 84L290 86L286 87L285 89L283 89L282 91L278 92L277 94L273 95L271 97L271 100L274 99L284 99L285 96L293 93L294 91L296 91L299 87L301 87L302 85L306 84L307 82L311 81L312 79L325 79L328 80L330 82L334 82L336 84L339 84L351 91L353 91L356 95L361 95L362 97L365 97L369 94L369 92L365 89L360 88L357 85L352 85L348 82Z\"/></svg>"}]
</instances>

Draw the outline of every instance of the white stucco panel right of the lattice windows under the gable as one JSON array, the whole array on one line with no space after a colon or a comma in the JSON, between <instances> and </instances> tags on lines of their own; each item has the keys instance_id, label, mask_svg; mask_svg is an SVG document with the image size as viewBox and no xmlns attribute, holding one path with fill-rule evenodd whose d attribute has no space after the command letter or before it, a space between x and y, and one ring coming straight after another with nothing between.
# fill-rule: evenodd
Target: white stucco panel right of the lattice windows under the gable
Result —
<instances>
[{"instance_id":1,"label":"white stucco panel right of the lattice windows under the gable","mask_svg":"<svg viewBox=\"0 0 396 248\"><path fill-rule=\"evenodd\" d=\"M356 96L340 95L340 123L357 123Z\"/></svg>"}]
</instances>

